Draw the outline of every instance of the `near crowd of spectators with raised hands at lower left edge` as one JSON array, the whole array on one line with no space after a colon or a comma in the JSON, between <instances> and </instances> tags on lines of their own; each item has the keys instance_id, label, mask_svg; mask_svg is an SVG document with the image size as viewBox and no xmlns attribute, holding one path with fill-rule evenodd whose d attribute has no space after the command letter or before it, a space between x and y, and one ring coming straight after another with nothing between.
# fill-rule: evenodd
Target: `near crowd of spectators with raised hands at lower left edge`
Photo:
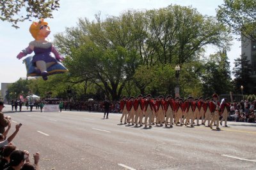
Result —
<instances>
[{"instance_id":1,"label":"near crowd of spectators with raised hands at lower left edge","mask_svg":"<svg viewBox=\"0 0 256 170\"><path fill-rule=\"evenodd\" d=\"M5 117L2 113L3 108L4 103L0 101L0 169L39 169L38 161L40 153L36 152L33 155L34 163L32 164L29 160L29 152L26 150L17 150L16 146L12 143L22 124L15 125L15 131L7 138L8 132L12 127L12 122L11 117Z\"/></svg>"}]
</instances>

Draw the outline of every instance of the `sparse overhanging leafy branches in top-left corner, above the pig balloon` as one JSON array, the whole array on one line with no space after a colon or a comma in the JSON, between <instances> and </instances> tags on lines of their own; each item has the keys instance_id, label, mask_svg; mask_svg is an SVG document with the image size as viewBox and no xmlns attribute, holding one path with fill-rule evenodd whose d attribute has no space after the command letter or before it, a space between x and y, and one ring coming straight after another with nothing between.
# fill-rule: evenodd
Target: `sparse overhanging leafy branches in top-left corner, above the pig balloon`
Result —
<instances>
[{"instance_id":1,"label":"sparse overhanging leafy branches in top-left corner, above the pig balloon","mask_svg":"<svg viewBox=\"0 0 256 170\"><path fill-rule=\"evenodd\" d=\"M30 18L52 18L52 11L60 8L59 1L4 0L0 2L0 20L10 22L13 27L19 28L18 22L30 20Z\"/></svg>"}]
</instances>

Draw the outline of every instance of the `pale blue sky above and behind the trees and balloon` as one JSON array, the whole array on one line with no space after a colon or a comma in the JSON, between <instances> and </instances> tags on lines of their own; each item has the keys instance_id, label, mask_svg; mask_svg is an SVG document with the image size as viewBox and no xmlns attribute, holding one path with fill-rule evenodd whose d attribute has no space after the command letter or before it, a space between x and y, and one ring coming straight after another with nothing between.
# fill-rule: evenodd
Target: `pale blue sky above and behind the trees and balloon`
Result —
<instances>
[{"instance_id":1,"label":"pale blue sky above and behind the trees and balloon","mask_svg":"<svg viewBox=\"0 0 256 170\"><path fill-rule=\"evenodd\" d=\"M77 18L94 19L94 15L101 13L102 18L108 15L118 16L125 10L150 10L166 7L170 4L181 6L192 6L203 15L216 15L216 8L223 4L223 0L60 0L60 8L54 11L52 19L45 19L51 27L49 36L53 41L53 35L64 32L66 27L76 26ZM37 21L37 20L36 20ZM8 22L0 21L0 83L12 83L20 77L26 77L26 67L22 59L16 59L20 50L26 48L33 41L29 33L31 22L26 21L19 24L20 29L15 29ZM241 42L234 40L228 58L231 67L234 59L241 55ZM218 48L209 46L205 55L214 53Z\"/></svg>"}]
</instances>

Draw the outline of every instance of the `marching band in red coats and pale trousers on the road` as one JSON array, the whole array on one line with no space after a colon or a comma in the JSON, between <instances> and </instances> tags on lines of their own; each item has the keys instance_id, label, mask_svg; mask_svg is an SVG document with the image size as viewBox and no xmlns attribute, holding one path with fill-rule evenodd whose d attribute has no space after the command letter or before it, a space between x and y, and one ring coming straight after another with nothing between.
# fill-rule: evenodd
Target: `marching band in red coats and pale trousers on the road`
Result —
<instances>
[{"instance_id":1,"label":"marching band in red coats and pale trousers on the road","mask_svg":"<svg viewBox=\"0 0 256 170\"><path fill-rule=\"evenodd\" d=\"M227 117L230 104L221 100L218 101L218 95L213 94L212 99L199 97L194 99L189 96L184 101L180 97L173 97L168 95L152 98L150 94L143 97L142 95L135 97L126 96L122 97L120 101L120 111L122 117L120 118L120 124L124 120L124 124L131 124L138 127L144 126L152 127L152 125L173 127L173 125L205 125L212 129L212 125L216 125L216 130L220 130L219 124L225 121L225 127L227 127ZM220 120L220 116L222 119ZM196 123L195 123L196 120ZM208 121L208 122L207 122ZM205 125L206 126L206 125Z\"/></svg>"}]
</instances>

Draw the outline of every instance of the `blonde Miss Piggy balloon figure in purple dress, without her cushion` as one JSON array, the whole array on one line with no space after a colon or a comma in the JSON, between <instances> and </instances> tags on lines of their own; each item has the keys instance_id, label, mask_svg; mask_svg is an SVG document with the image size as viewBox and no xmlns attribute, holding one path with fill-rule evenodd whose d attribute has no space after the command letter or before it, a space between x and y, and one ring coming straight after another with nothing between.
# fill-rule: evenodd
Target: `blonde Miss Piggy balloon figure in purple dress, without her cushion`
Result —
<instances>
[{"instance_id":1,"label":"blonde Miss Piggy balloon figure in purple dress, without her cushion","mask_svg":"<svg viewBox=\"0 0 256 170\"><path fill-rule=\"evenodd\" d=\"M47 41L46 38L51 31L48 23L44 22L44 19L41 19L39 22L33 22L29 31L35 40L31 41L29 46L17 55L17 58L21 59L29 53L35 52L31 60L32 65L35 66L34 72L36 75L41 75L44 80L47 80L49 75L47 69L54 64L60 63L64 58L60 56L52 43Z\"/></svg>"}]
</instances>

